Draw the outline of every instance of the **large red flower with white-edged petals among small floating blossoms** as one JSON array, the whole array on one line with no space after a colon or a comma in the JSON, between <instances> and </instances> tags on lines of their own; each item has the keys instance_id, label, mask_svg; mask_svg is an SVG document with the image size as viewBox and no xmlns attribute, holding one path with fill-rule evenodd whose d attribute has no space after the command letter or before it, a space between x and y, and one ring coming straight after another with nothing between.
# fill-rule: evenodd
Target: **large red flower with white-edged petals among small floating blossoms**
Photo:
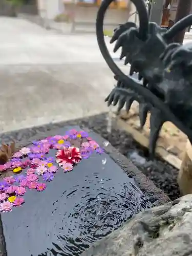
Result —
<instances>
[{"instance_id":1,"label":"large red flower with white-edged petals among small floating blossoms","mask_svg":"<svg viewBox=\"0 0 192 256\"><path fill-rule=\"evenodd\" d=\"M64 146L62 150L58 150L56 153L56 158L56 162L59 164L59 166L62 166L62 164L65 163L75 164L80 162L82 159L79 148L73 146Z\"/></svg>"}]
</instances>

